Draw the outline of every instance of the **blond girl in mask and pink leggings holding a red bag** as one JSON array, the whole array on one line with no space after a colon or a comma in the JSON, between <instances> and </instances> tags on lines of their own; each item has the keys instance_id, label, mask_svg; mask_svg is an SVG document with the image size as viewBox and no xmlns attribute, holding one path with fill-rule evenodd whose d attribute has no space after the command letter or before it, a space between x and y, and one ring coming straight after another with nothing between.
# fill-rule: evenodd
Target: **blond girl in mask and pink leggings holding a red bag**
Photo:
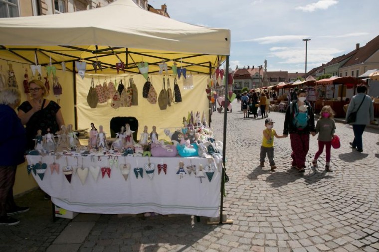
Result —
<instances>
[{"instance_id":1,"label":"blond girl in mask and pink leggings holding a red bag","mask_svg":"<svg viewBox=\"0 0 379 252\"><path fill-rule=\"evenodd\" d=\"M333 120L334 118L334 111L332 107L329 105L324 106L321 109L320 112L320 119L317 121L316 124L316 134L318 133L319 136L317 138L319 149L315 154L315 157L313 158L312 165L313 167L317 167L317 159L323 153L324 146L325 146L325 152L326 152L326 164L325 164L325 171L327 172L333 172L333 169L330 167L330 150L332 148L332 139L334 137L334 133L336 130L336 124Z\"/></svg>"}]
</instances>

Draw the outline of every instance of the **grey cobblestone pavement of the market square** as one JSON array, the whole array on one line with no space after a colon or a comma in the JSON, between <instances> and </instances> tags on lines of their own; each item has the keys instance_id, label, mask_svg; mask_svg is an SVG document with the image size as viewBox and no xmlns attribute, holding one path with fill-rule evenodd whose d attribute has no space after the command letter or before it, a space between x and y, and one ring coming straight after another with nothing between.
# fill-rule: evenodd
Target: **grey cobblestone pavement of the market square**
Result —
<instances>
[{"instance_id":1,"label":"grey cobblestone pavement of the market square","mask_svg":"<svg viewBox=\"0 0 379 252\"><path fill-rule=\"evenodd\" d=\"M101 215L78 251L379 251L379 131L364 133L364 152L360 153L349 147L352 128L337 124L342 146L332 149L333 173L323 172L325 153L319 158L319 168L308 165L304 174L291 169L289 137L276 138L278 168L271 172L268 162L259 167L264 121L243 119L237 106L234 101L227 126L230 180L224 210L233 219L232 225L206 225L205 219L197 223L189 216ZM281 134L284 114L272 112L270 118ZM222 138L222 119L218 113L212 118L218 139ZM311 137L310 145L308 164L317 151L316 137ZM23 198L27 197L35 195ZM39 219L33 219L33 208L20 218L21 225L0 228L1 251L2 241L5 251L43 250L67 225L66 220L51 224L46 203L38 206L38 211L45 211Z\"/></svg>"}]
</instances>

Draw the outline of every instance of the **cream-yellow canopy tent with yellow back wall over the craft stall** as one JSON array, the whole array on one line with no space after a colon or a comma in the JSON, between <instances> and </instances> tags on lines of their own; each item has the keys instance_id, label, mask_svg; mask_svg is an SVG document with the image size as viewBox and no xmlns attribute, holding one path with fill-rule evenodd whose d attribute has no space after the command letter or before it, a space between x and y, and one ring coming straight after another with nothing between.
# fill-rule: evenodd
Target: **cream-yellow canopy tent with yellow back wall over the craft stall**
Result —
<instances>
[{"instance_id":1,"label":"cream-yellow canopy tent with yellow back wall over the craft stall","mask_svg":"<svg viewBox=\"0 0 379 252\"><path fill-rule=\"evenodd\" d=\"M102 83L104 77L117 76L116 63L125 63L125 71L133 75L140 98L144 79L141 75L137 75L139 73L137 64L142 61L149 64L149 74L153 74L152 83L158 93L163 76L155 74L158 74L159 64L162 60L166 61L168 65L171 76L166 78L171 79L172 86L174 73L171 66L174 62L178 64L178 68L187 68L187 74L193 74L195 77L193 91L195 92L192 93L195 95L184 94L186 91L181 87L184 96L183 103L173 105L174 109L171 111L170 109L160 111L158 105L147 107L145 101L142 102L140 109L130 107L121 108L117 112L112 111L112 113L123 116L139 115L137 118L143 117L146 113L154 115L152 120L161 120L156 122L157 125L160 125L162 121L169 122L162 123L163 126L178 126L179 122L181 123L179 115L185 115L188 110L193 109L195 112L207 108L208 101L204 93L207 78L225 60L225 76L228 76L230 30L176 21L146 11L132 0L116 0L101 8L59 15L1 18L0 34L0 60L3 63L18 64L17 69L20 70L21 66L27 64L47 66L51 58L52 65L57 69L57 75L62 75L65 83L73 83L72 86L63 87L67 88L66 92L72 94L73 98L65 96L64 93L61 98L61 106L62 102L68 106L68 102L65 100L73 99L72 105L69 107L72 108L71 111L74 111L75 126L80 127L88 127L88 118L101 120L99 117L106 118L109 116L108 112L113 110L110 106L108 108L100 106L101 108L91 110L89 113L90 109L83 98L86 96L85 91L89 89L89 80L92 76L95 76L95 83L97 81ZM79 81L80 77L77 77L75 61L87 63L87 74L84 80ZM101 61L102 71L97 70L95 73L92 63L97 61ZM61 71L62 62L66 67L64 73ZM70 72L74 73L71 77ZM16 73L19 86L21 86L20 80L23 79L23 74L23 71ZM99 75L101 77L97 77ZM128 81L130 76L127 74L125 76ZM124 75L116 77L116 81L121 78L124 78ZM62 79L60 79L61 83ZM183 84L179 82L179 85ZM65 91L63 90L63 92ZM227 85L225 94L228 94ZM142 98L139 99L139 101L141 100ZM70 114L72 113L67 112L63 116L70 117ZM81 123L82 118L86 117L85 123ZM226 143L226 111L224 142ZM224 144L223 150L224 163L225 146L226 144ZM223 181L222 179L222 183ZM222 212L220 216L222 216Z\"/></svg>"}]
</instances>

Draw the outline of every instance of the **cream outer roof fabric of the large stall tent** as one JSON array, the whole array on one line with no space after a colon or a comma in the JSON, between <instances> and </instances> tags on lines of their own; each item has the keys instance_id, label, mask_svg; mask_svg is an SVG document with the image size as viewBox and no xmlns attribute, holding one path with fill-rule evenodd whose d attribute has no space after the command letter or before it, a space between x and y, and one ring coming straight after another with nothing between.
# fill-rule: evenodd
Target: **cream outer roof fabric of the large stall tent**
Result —
<instances>
[{"instance_id":1,"label":"cream outer roof fabric of the large stall tent","mask_svg":"<svg viewBox=\"0 0 379 252\"><path fill-rule=\"evenodd\" d=\"M202 27L144 10L132 0L59 15L0 19L0 44L102 45L229 55L230 30Z\"/></svg>"}]
</instances>

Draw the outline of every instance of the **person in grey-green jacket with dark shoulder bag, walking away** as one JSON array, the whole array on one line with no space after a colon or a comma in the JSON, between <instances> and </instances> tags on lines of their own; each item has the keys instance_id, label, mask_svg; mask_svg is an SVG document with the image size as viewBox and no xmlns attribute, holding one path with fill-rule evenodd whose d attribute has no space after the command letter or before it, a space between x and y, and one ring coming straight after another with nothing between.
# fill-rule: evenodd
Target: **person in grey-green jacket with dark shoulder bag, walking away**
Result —
<instances>
[{"instance_id":1,"label":"person in grey-green jacket with dark shoulder bag, walking away","mask_svg":"<svg viewBox=\"0 0 379 252\"><path fill-rule=\"evenodd\" d=\"M353 126L354 140L350 142L351 147L359 152L363 151L362 135L366 125L374 122L374 105L370 96L366 95L367 87L359 85L357 95L353 96L346 112L345 122L348 122L350 115L356 112L355 122L350 123Z\"/></svg>"}]
</instances>

